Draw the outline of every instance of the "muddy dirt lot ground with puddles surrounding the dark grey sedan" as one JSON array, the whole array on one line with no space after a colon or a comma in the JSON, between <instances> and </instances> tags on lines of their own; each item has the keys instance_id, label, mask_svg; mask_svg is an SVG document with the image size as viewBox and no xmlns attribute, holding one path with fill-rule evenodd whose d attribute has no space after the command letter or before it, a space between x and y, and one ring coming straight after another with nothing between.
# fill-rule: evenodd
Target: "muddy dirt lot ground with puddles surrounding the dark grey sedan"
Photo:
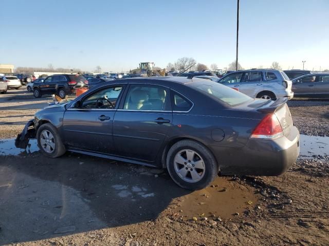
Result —
<instances>
[{"instance_id":1,"label":"muddy dirt lot ground with puddles surrounding the dark grey sedan","mask_svg":"<svg viewBox=\"0 0 329 246\"><path fill-rule=\"evenodd\" d=\"M0 95L0 139L48 100ZM301 133L329 136L329 101L289 107ZM22 153L12 144L0 140L1 245L329 244L328 138L305 136L282 176L217 177L196 192L164 170L72 153L48 159L33 141Z\"/></svg>"}]
</instances>

